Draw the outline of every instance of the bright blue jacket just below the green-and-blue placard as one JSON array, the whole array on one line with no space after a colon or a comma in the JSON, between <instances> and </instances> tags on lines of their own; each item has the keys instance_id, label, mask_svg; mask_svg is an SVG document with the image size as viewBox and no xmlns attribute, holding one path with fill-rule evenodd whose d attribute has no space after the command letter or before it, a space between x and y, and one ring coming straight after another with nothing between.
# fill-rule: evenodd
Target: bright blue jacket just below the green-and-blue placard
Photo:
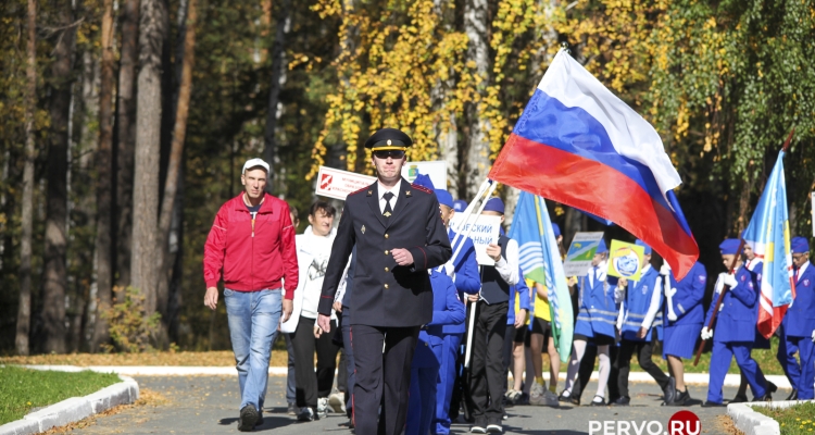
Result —
<instances>
[{"instance_id":1,"label":"bright blue jacket just below the green-and-blue placard","mask_svg":"<svg viewBox=\"0 0 815 435\"><path fill-rule=\"evenodd\" d=\"M594 268L589 269L587 276L577 281L579 288L577 323L575 334L593 336L594 333L614 337L614 326L617 323L617 303L614 301L614 287L617 277L605 276L607 263L598 268L600 279L594 279ZM592 275L592 278L589 278Z\"/></svg>"}]
</instances>

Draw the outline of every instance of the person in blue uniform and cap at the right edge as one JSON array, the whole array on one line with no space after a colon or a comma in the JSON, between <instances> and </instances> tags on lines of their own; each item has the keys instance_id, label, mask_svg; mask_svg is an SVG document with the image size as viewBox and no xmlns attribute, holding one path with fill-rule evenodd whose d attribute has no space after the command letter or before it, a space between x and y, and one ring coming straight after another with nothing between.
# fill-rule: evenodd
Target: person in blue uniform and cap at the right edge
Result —
<instances>
[{"instance_id":1,"label":"person in blue uniform and cap at the right edge","mask_svg":"<svg viewBox=\"0 0 815 435\"><path fill-rule=\"evenodd\" d=\"M815 268L810 264L810 243L803 237L792 239L792 263L795 299L781 322L778 362L792 385L787 400L811 400L815 398Z\"/></svg>"}]
</instances>

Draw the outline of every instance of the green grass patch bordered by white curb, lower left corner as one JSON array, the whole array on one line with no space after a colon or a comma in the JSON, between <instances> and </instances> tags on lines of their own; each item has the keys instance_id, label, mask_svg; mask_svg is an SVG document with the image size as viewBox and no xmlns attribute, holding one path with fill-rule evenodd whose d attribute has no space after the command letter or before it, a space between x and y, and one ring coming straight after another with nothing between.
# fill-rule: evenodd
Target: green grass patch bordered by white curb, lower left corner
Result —
<instances>
[{"instance_id":1,"label":"green grass patch bordered by white curb, lower left corner","mask_svg":"<svg viewBox=\"0 0 815 435\"><path fill-rule=\"evenodd\" d=\"M78 373L0 366L0 424L22 419L33 408L87 396L121 382L111 373Z\"/></svg>"}]
</instances>

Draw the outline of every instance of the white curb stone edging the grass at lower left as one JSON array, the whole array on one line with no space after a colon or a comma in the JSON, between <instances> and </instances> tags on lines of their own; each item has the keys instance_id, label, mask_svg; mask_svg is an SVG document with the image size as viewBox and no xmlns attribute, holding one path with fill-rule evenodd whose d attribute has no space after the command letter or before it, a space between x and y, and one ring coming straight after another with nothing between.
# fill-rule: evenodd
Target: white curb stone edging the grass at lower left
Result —
<instances>
[{"instance_id":1,"label":"white curb stone edging the grass at lower left","mask_svg":"<svg viewBox=\"0 0 815 435\"><path fill-rule=\"evenodd\" d=\"M76 369L76 368L74 368ZM77 370L65 370L77 371ZM139 384L131 377L118 376L122 382L84 397L72 397L25 415L22 420L0 426L0 435L28 435L63 426L118 405L133 403L139 398Z\"/></svg>"}]
</instances>

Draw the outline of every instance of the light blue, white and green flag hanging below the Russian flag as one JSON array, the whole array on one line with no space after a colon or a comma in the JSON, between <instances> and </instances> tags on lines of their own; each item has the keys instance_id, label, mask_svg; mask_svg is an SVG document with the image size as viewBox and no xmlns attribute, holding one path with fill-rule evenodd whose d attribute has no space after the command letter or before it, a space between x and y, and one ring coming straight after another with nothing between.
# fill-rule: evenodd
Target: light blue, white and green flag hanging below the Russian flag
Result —
<instances>
[{"instance_id":1,"label":"light blue, white and green flag hanging below the Russian flag","mask_svg":"<svg viewBox=\"0 0 815 435\"><path fill-rule=\"evenodd\" d=\"M552 337L561 361L566 362L574 335L572 297L543 198L521 192L509 236L518 243L524 276L547 287L552 310Z\"/></svg>"}]
</instances>

